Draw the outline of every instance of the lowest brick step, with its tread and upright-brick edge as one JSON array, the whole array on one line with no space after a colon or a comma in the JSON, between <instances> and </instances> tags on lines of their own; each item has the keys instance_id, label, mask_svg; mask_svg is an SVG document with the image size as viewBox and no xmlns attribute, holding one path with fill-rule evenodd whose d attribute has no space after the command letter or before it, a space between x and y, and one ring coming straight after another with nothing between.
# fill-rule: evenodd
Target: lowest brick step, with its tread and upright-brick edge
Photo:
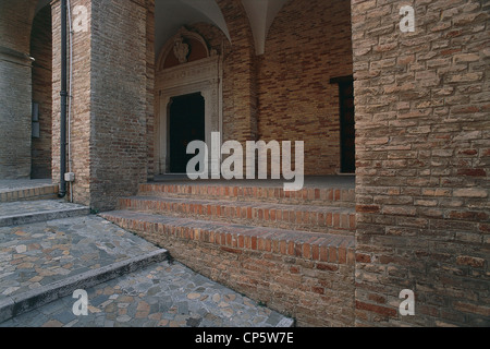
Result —
<instances>
[{"instance_id":1,"label":"lowest brick step, with its tread and upright-brick edge","mask_svg":"<svg viewBox=\"0 0 490 349\"><path fill-rule=\"evenodd\" d=\"M149 241L158 241L162 236L168 236L196 243L216 244L228 253L266 251L315 262L355 263L355 239L352 236L244 226L133 210L113 210L100 216Z\"/></svg>"}]
</instances>

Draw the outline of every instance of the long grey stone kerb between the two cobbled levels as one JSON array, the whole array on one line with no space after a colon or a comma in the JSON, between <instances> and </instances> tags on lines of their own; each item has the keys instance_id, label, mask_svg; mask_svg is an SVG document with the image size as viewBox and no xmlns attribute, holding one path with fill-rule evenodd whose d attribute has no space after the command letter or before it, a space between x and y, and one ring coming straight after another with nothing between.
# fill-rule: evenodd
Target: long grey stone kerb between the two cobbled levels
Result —
<instances>
[{"instance_id":1,"label":"long grey stone kerb between the two cobbled levels","mask_svg":"<svg viewBox=\"0 0 490 349\"><path fill-rule=\"evenodd\" d=\"M71 296L77 289L88 289L125 274L133 273L149 264L162 262L168 256L169 252L160 249L95 270L74 275L22 294L9 297L0 301L0 323L46 305L60 298Z\"/></svg>"}]
</instances>

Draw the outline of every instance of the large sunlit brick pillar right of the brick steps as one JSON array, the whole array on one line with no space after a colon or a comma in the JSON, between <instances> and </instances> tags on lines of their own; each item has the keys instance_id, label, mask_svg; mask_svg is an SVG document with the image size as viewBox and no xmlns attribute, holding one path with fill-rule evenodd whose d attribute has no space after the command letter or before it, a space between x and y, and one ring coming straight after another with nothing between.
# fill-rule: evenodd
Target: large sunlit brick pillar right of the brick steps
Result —
<instances>
[{"instance_id":1,"label":"large sunlit brick pillar right of the brick steps","mask_svg":"<svg viewBox=\"0 0 490 349\"><path fill-rule=\"evenodd\" d=\"M490 324L489 9L352 2L359 326ZM415 316L397 313L403 289Z\"/></svg>"}]
</instances>

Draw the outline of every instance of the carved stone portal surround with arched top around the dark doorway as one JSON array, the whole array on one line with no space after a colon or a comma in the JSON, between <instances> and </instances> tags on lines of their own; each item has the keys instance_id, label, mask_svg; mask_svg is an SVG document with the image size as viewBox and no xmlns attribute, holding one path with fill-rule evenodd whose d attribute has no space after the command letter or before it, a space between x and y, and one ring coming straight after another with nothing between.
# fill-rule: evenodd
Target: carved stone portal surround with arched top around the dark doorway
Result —
<instances>
[{"instance_id":1,"label":"carved stone portal surround with arched top around the dark doorway","mask_svg":"<svg viewBox=\"0 0 490 349\"><path fill-rule=\"evenodd\" d=\"M170 173L169 118L172 98L200 93L205 99L206 143L222 133L222 56L209 49L197 33L181 28L167 41L157 60L157 118L155 163L157 174Z\"/></svg>"}]
</instances>

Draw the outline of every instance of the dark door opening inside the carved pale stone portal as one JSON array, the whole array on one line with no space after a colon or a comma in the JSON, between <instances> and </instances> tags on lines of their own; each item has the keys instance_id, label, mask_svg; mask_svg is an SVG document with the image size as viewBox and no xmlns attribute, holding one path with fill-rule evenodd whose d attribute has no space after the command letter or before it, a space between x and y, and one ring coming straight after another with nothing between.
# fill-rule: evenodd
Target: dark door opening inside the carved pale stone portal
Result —
<instances>
[{"instance_id":1,"label":"dark door opening inside the carved pale stone portal","mask_svg":"<svg viewBox=\"0 0 490 349\"><path fill-rule=\"evenodd\" d=\"M187 154L187 145L206 141L204 97L199 93L173 97L169 112L170 173L186 173L195 156Z\"/></svg>"}]
</instances>

